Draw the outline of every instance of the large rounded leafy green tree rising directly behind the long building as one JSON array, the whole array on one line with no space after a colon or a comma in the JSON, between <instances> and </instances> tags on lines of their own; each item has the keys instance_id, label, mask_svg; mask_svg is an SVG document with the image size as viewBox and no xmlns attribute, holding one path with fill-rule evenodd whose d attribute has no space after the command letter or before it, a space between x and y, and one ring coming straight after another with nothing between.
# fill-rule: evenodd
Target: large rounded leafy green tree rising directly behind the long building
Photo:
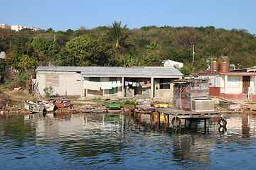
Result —
<instances>
[{"instance_id":1,"label":"large rounded leafy green tree rising directly behind the long building","mask_svg":"<svg viewBox=\"0 0 256 170\"><path fill-rule=\"evenodd\" d=\"M67 42L58 55L62 66L106 66L110 62L112 47L100 35L80 35Z\"/></svg>"}]
</instances>

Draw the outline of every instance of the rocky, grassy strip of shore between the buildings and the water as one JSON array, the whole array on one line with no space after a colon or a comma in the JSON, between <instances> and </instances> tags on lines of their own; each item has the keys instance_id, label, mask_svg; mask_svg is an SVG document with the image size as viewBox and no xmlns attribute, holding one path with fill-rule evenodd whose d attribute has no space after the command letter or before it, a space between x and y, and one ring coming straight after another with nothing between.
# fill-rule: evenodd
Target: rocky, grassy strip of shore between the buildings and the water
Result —
<instances>
[{"instance_id":1,"label":"rocky, grassy strip of shore between the buildings and the water","mask_svg":"<svg viewBox=\"0 0 256 170\"><path fill-rule=\"evenodd\" d=\"M9 98L9 100L14 101L13 106L4 106L0 108L1 115L3 114L16 114L16 115L27 115L30 114L30 111L26 111L24 108L24 100L28 98L29 100L38 98L33 96L28 96L26 91L4 91ZM104 98L73 98L72 96L65 96L68 100L72 101L72 106L68 108L58 108L55 111L49 113L129 113L129 109L134 108L132 105L125 105L120 110L110 110L107 109L103 103ZM210 96L214 99L215 111L220 112L220 114L232 114L232 113L256 113L256 101L241 101L241 100L232 100L228 101L224 98L219 98L215 96ZM46 98L42 98L46 99ZM120 99L120 98L116 98ZM132 98L124 98L124 100L132 101ZM239 110L231 111L224 108L220 108L220 101L228 101L233 103L238 103L240 105ZM15 104L16 103L16 104ZM172 104L170 103L170 108ZM32 113L33 114L33 113Z\"/></svg>"}]
</instances>

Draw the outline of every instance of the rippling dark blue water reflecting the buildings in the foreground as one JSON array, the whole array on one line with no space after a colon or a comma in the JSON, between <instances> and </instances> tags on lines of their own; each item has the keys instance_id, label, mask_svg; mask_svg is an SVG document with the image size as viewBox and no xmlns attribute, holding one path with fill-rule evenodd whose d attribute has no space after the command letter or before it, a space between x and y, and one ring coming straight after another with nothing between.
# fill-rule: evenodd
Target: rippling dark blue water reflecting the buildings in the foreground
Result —
<instances>
[{"instance_id":1,"label":"rippling dark blue water reflecting the buildings in the foreground","mask_svg":"<svg viewBox=\"0 0 256 170\"><path fill-rule=\"evenodd\" d=\"M0 115L0 169L254 169L256 115L172 128L110 114Z\"/></svg>"}]
</instances>

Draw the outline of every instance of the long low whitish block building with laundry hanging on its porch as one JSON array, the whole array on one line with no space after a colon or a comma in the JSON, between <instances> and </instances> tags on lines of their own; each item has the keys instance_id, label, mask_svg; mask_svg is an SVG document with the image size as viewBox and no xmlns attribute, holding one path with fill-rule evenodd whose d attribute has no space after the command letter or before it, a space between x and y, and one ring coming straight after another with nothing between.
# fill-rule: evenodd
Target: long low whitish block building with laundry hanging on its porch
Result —
<instances>
[{"instance_id":1,"label":"long low whitish block building with laundry hanging on its porch","mask_svg":"<svg viewBox=\"0 0 256 170\"><path fill-rule=\"evenodd\" d=\"M183 74L173 67L38 67L38 94L53 87L56 96L118 98L173 97L174 80Z\"/></svg>"}]
</instances>

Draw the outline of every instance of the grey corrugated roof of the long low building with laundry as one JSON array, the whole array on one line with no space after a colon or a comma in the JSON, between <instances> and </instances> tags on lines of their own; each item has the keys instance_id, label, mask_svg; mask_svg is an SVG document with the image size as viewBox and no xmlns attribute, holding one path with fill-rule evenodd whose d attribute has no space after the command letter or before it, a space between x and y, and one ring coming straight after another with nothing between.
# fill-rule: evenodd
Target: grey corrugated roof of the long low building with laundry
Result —
<instances>
[{"instance_id":1,"label":"grey corrugated roof of the long low building with laundry","mask_svg":"<svg viewBox=\"0 0 256 170\"><path fill-rule=\"evenodd\" d=\"M38 67L36 72L81 72L86 76L183 76L173 67Z\"/></svg>"}]
</instances>

